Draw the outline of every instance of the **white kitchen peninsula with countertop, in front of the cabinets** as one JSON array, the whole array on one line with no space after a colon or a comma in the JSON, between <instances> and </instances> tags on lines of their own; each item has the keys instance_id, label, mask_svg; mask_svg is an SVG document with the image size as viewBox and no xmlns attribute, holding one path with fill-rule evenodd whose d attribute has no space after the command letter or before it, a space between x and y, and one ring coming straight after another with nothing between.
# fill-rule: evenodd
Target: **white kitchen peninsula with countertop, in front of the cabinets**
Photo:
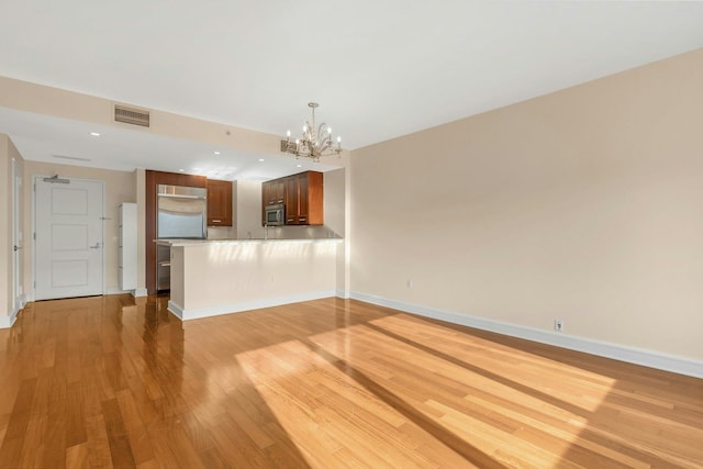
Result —
<instances>
[{"instance_id":1,"label":"white kitchen peninsula with countertop, in front of the cabinets","mask_svg":"<svg viewBox=\"0 0 703 469\"><path fill-rule=\"evenodd\" d=\"M339 237L160 241L182 321L333 297Z\"/></svg>"}]
</instances>

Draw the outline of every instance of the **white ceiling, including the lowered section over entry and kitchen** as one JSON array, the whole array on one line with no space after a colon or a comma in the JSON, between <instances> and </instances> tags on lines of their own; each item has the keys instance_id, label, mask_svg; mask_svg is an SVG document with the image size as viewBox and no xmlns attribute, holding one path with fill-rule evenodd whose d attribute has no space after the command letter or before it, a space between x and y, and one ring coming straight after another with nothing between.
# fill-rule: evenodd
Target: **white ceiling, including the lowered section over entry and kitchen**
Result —
<instances>
[{"instance_id":1,"label":"white ceiling, including the lowered section over entry and kitchen","mask_svg":"<svg viewBox=\"0 0 703 469\"><path fill-rule=\"evenodd\" d=\"M2 0L0 7L0 76L277 135L291 127L295 134L314 100L319 121L349 149L700 47L703 2ZM188 172L197 163L224 171L222 179L276 177L291 164L267 155L261 165L261 155L237 150L215 157L204 144L113 127L87 144L85 124L0 111L0 132L27 159L71 164L51 156L67 155L91 159L72 160L78 165Z\"/></svg>"}]
</instances>

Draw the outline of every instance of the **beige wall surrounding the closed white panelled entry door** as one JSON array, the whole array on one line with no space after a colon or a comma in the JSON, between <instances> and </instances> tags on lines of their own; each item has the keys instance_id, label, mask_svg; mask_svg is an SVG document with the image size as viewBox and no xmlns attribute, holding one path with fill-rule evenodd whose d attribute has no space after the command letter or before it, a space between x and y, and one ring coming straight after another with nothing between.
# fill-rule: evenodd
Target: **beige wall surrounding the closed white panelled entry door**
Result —
<instances>
[{"instance_id":1,"label":"beige wall surrounding the closed white panelled entry door","mask_svg":"<svg viewBox=\"0 0 703 469\"><path fill-rule=\"evenodd\" d=\"M122 202L136 202L136 172L114 171L108 169L82 168L68 165L55 165L48 163L26 161L24 165L24 212L32 211L32 186L34 176L59 175L65 178L93 179L105 182L105 231L104 231L104 283L105 293L114 293L120 290L118 279L118 241L119 217L118 209ZM141 223L140 223L141 224ZM31 216L25 219L25 233L32 233ZM29 246L27 246L29 247ZM30 284L33 276L32 249L24 253L25 282ZM143 270L143 269L142 269ZM138 281L138 279L137 279Z\"/></svg>"}]
</instances>

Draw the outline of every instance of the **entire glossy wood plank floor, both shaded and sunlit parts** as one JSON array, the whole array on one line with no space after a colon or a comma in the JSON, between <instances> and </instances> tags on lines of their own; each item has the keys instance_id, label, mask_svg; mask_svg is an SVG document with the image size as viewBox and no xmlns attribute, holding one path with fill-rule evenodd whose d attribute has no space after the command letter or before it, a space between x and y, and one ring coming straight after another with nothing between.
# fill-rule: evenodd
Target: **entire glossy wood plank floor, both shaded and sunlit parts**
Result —
<instances>
[{"instance_id":1,"label":"entire glossy wood plank floor, both shaded and sunlit parts","mask_svg":"<svg viewBox=\"0 0 703 469\"><path fill-rule=\"evenodd\" d=\"M0 330L0 467L701 468L703 380L327 299Z\"/></svg>"}]
</instances>

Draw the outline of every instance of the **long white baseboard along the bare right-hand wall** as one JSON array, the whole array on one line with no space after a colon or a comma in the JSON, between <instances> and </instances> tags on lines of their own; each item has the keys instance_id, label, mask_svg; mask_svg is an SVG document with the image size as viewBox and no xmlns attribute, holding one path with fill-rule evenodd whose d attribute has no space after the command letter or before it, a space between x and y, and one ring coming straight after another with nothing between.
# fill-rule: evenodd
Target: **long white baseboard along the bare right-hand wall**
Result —
<instances>
[{"instance_id":1,"label":"long white baseboard along the bare right-hand wall","mask_svg":"<svg viewBox=\"0 0 703 469\"><path fill-rule=\"evenodd\" d=\"M612 358L615 360L626 361L635 365L643 365L645 367L671 371L679 375L687 375L694 378L703 378L703 362L692 360L690 358L660 354L652 350L628 347L591 338L577 337L550 331L542 331L534 327L526 327L500 321L487 320L483 317L470 316L468 314L460 314L453 311L436 310L433 308L389 300L386 298L356 291L352 292L350 298L371 304L392 308L394 310L400 310L406 313L413 313L454 324L476 327L479 330L509 335L512 337L524 338L527 340L538 342L540 344L554 345L571 350L598 355L600 357Z\"/></svg>"}]
</instances>

